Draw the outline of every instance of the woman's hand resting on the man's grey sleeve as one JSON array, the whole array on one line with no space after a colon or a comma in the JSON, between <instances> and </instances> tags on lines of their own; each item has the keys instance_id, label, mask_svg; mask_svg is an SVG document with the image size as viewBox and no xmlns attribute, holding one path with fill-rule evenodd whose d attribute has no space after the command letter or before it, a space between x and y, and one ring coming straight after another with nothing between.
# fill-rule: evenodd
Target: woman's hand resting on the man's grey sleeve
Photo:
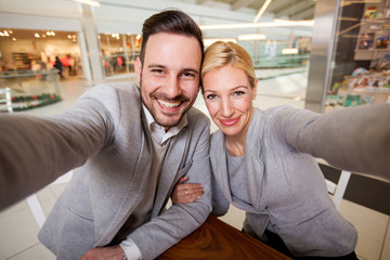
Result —
<instances>
[{"instance_id":1,"label":"woman's hand resting on the man's grey sleeve","mask_svg":"<svg viewBox=\"0 0 390 260\"><path fill-rule=\"evenodd\" d=\"M198 199L205 190L199 183L184 183L187 177L182 177L176 184L171 194L172 204L187 204Z\"/></svg>"}]
</instances>

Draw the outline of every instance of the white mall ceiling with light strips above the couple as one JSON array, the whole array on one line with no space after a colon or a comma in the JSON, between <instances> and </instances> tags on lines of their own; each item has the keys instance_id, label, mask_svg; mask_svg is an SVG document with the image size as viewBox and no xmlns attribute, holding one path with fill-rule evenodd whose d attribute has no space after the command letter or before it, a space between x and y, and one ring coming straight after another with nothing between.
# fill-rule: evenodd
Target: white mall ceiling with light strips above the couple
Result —
<instances>
[{"instance_id":1,"label":"white mall ceiling with light strips above the couple","mask_svg":"<svg viewBox=\"0 0 390 260\"><path fill-rule=\"evenodd\" d=\"M101 6L94 9L99 32L140 34L144 20L167 8L186 12L199 25L252 23L265 0L99 1ZM259 23L274 18L312 20L314 6L315 0L273 0ZM5 28L77 30L75 28L80 17L79 4L72 0L0 0L0 25ZM50 22L43 22L49 18ZM64 21L69 22L64 23ZM312 28L289 27L284 30L275 28L210 30L204 31L204 35L211 38L262 32L270 36L269 39L277 37L286 39L286 35L290 34L310 35Z\"/></svg>"}]
</instances>

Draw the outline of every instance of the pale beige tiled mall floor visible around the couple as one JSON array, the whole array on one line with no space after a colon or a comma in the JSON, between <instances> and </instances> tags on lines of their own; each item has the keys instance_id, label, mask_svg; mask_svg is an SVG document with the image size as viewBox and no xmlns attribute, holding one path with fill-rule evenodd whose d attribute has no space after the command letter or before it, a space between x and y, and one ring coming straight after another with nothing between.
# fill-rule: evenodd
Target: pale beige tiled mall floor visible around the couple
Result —
<instances>
[{"instance_id":1,"label":"pale beige tiled mall floor visible around the couple","mask_svg":"<svg viewBox=\"0 0 390 260\"><path fill-rule=\"evenodd\" d=\"M290 73L290 72L284 72ZM275 105L289 104L302 108L304 104L307 73L290 74L274 77L281 70L268 70L259 75L265 79L259 81L258 95L255 105L266 108ZM266 79L268 78L268 79ZM125 79L119 79L122 81ZM134 78L126 79L134 80ZM47 107L24 112L30 115L53 115L68 107L90 86L82 80L66 79L61 81L63 101ZM195 106L206 115L205 103L199 96ZM212 125L211 131L217 127ZM66 186L66 183L55 184L42 188L37 193L38 198L48 214L55 200ZM360 259L389 260L390 259L390 218L360 205L342 200L340 212L354 224L359 232L356 253ZM231 225L242 229L244 212L231 207L227 214L221 218ZM0 260L52 260L54 256L37 239L38 225L26 200L0 212Z\"/></svg>"}]
</instances>

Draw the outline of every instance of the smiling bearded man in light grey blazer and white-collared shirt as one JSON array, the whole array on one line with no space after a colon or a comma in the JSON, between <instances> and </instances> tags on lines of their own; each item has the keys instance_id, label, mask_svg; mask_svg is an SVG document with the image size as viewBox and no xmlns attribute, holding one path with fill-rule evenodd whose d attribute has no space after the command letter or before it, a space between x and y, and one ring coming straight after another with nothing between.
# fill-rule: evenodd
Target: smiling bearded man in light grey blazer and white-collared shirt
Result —
<instances>
[{"instance_id":1,"label":"smiling bearded man in light grey blazer and white-collared shirt","mask_svg":"<svg viewBox=\"0 0 390 260\"><path fill-rule=\"evenodd\" d=\"M103 84L58 116L0 117L1 208L81 166L38 235L57 259L154 259L211 211L209 120L191 108L202 32L165 11L145 21L143 37L140 89ZM183 176L205 194L162 211Z\"/></svg>"}]
</instances>

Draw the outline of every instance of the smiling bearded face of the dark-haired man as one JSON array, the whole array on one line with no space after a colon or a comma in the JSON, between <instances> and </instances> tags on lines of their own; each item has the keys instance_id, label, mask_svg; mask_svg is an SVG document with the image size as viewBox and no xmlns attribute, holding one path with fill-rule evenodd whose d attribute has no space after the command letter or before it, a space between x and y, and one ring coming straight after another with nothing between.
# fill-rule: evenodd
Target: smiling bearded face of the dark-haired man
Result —
<instances>
[{"instance_id":1,"label":"smiling bearded face of the dark-haired man","mask_svg":"<svg viewBox=\"0 0 390 260\"><path fill-rule=\"evenodd\" d=\"M167 129L178 125L199 90L202 52L195 37L150 36L144 63L136 58L141 98L153 118Z\"/></svg>"}]
</instances>

